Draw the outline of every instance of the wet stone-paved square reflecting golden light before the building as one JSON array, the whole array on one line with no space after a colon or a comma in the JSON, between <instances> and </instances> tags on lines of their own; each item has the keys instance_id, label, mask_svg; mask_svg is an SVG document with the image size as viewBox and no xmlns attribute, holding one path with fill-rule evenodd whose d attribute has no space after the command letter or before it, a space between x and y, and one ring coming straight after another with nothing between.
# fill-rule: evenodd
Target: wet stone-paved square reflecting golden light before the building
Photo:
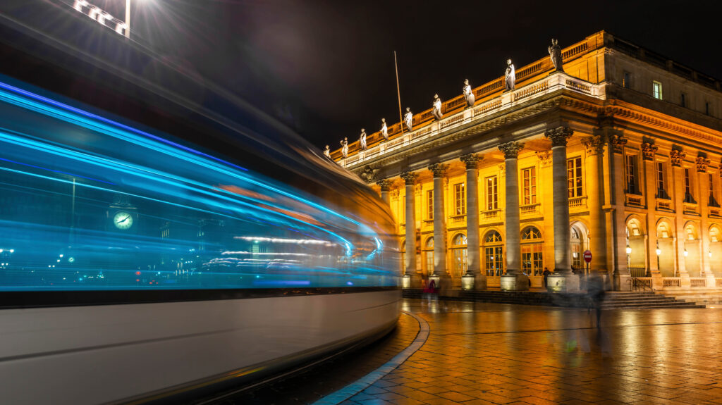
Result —
<instances>
[{"instance_id":1,"label":"wet stone-paved square reflecting golden light before the building","mask_svg":"<svg viewBox=\"0 0 722 405\"><path fill-rule=\"evenodd\" d=\"M722 404L722 312L404 301L417 352L344 404Z\"/></svg>"}]
</instances>

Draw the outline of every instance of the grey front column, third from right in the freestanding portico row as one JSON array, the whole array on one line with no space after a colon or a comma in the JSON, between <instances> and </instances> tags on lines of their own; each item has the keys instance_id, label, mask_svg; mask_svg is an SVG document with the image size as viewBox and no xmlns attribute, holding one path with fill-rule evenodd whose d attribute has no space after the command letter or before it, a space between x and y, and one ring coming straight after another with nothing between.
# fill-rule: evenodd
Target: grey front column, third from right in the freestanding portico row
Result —
<instances>
[{"instance_id":1,"label":"grey front column, third from right in the freestanding portico row","mask_svg":"<svg viewBox=\"0 0 722 405\"><path fill-rule=\"evenodd\" d=\"M479 161L482 156L469 153L461 156L466 164L466 249L468 259L466 275L461 277L464 290L486 290L487 275L482 274L479 251Z\"/></svg>"}]
</instances>

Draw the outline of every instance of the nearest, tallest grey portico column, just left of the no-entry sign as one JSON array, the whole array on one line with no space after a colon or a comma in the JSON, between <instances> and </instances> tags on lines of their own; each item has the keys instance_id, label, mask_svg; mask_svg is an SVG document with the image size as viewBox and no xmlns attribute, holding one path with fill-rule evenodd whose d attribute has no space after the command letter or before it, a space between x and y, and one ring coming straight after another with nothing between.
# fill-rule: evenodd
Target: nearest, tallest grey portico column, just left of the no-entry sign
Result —
<instances>
[{"instance_id":1,"label":"nearest, tallest grey portico column, just left of the no-entry sign","mask_svg":"<svg viewBox=\"0 0 722 405\"><path fill-rule=\"evenodd\" d=\"M557 127L544 132L552 141L552 194L554 197L554 274L547 280L554 290L578 291L579 277L572 273L567 185L567 139L573 130Z\"/></svg>"}]
</instances>

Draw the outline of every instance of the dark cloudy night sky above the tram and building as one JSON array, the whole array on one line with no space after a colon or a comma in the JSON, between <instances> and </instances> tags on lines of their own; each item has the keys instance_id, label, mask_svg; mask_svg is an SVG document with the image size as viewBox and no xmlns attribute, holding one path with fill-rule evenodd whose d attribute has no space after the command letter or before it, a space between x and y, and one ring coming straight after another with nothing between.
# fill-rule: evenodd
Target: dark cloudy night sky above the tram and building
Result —
<instances>
[{"instance_id":1,"label":"dark cloudy night sky above the tram and building","mask_svg":"<svg viewBox=\"0 0 722 405\"><path fill-rule=\"evenodd\" d=\"M11 0L12 1L12 0ZM71 2L71 0L66 0ZM131 0L132 34L331 148L607 30L722 78L713 1ZM123 0L90 0L123 19Z\"/></svg>"}]
</instances>

